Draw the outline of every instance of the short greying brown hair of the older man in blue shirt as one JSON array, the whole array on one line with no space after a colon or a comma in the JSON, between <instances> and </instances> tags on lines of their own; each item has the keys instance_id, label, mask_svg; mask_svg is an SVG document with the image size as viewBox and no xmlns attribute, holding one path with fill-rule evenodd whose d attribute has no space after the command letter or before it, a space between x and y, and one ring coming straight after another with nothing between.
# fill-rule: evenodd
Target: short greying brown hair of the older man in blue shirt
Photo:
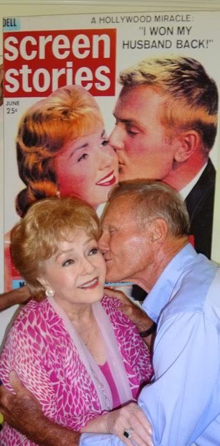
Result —
<instances>
[{"instance_id":1,"label":"short greying brown hair of the older man in blue shirt","mask_svg":"<svg viewBox=\"0 0 220 446\"><path fill-rule=\"evenodd\" d=\"M180 194L162 181L131 180L113 188L109 203L118 197L128 196L132 201L132 212L142 225L163 218L168 231L177 238L189 233L189 214ZM126 215L125 215L126 219Z\"/></svg>"}]
</instances>

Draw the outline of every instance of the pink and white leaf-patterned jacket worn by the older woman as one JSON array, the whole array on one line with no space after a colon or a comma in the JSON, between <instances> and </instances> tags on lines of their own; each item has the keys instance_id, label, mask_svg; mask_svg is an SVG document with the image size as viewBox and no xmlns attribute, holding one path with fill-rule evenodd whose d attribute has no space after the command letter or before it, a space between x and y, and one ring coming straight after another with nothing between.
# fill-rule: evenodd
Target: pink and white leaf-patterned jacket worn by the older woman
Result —
<instances>
[{"instance_id":1,"label":"pink and white leaf-patterned jacket worn by the older woman","mask_svg":"<svg viewBox=\"0 0 220 446\"><path fill-rule=\"evenodd\" d=\"M131 321L116 309L120 305L118 300L105 295L101 304L113 327L136 399L140 385L149 382L152 376L150 354ZM47 299L31 300L10 329L0 357L1 380L9 390L12 389L8 374L12 370L40 401L43 413L58 424L79 431L103 412L93 380L72 337ZM0 432L0 444L36 445L8 424Z\"/></svg>"}]
</instances>

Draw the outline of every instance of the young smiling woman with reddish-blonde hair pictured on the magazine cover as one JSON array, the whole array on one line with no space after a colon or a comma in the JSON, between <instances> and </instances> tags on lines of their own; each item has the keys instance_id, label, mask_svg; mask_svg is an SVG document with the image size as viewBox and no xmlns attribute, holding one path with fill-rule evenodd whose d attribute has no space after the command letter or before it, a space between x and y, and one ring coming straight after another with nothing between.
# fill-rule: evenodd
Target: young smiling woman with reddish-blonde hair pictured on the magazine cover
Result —
<instances>
[{"instance_id":1,"label":"young smiling woman with reddish-blonde hair pictured on the magazine cover","mask_svg":"<svg viewBox=\"0 0 220 446\"><path fill-rule=\"evenodd\" d=\"M79 85L64 86L26 110L16 138L19 176L26 187L16 199L22 216L45 197L81 197L99 215L118 182L118 158L109 146L100 108ZM5 236L5 290L16 276ZM19 276L17 275L17 278Z\"/></svg>"}]
</instances>

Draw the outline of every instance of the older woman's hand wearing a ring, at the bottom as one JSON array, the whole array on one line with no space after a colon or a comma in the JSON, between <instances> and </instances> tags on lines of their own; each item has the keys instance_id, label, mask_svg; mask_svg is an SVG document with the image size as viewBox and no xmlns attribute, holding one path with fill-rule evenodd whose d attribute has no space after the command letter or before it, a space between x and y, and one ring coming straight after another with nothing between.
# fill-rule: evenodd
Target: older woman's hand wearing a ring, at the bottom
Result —
<instances>
[{"instance_id":1,"label":"older woman's hand wearing a ring, at the bottom","mask_svg":"<svg viewBox=\"0 0 220 446\"><path fill-rule=\"evenodd\" d=\"M136 446L152 446L152 426L136 403L129 403L91 420L81 432L113 433L127 446L134 443ZM124 432L130 435L129 438Z\"/></svg>"}]
</instances>

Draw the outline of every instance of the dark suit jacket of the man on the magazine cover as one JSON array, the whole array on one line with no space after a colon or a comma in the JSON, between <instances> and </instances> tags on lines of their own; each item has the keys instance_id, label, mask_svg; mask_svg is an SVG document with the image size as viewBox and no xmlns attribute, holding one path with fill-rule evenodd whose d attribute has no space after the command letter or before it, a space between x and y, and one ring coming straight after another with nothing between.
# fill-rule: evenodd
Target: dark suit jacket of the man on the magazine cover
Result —
<instances>
[{"instance_id":1,"label":"dark suit jacket of the man on the magazine cover","mask_svg":"<svg viewBox=\"0 0 220 446\"><path fill-rule=\"evenodd\" d=\"M197 252L210 259L214 208L215 169L209 159L203 174L185 199L190 217L190 235Z\"/></svg>"}]
</instances>

